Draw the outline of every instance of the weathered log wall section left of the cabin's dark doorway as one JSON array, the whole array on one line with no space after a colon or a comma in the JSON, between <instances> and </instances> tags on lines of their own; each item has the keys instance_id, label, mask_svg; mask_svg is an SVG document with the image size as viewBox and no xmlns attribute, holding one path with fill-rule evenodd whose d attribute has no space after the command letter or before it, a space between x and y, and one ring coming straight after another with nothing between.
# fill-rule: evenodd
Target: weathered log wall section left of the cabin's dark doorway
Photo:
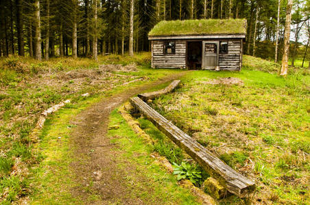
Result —
<instances>
[{"instance_id":1,"label":"weathered log wall section left of the cabin's dark doorway","mask_svg":"<svg viewBox=\"0 0 310 205\"><path fill-rule=\"evenodd\" d=\"M187 43L176 41L176 54L164 54L163 40L152 40L152 68L186 68Z\"/></svg>"}]
</instances>

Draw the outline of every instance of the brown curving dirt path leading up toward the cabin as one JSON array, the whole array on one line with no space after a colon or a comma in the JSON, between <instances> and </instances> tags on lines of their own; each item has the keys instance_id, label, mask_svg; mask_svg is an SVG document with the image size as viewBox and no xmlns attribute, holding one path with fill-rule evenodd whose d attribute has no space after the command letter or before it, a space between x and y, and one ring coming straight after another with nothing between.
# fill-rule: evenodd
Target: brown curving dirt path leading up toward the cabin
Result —
<instances>
[{"instance_id":1,"label":"brown curving dirt path leading up toward the cabin","mask_svg":"<svg viewBox=\"0 0 310 205\"><path fill-rule=\"evenodd\" d=\"M101 102L82 111L72 122L78 124L72 133L72 146L75 163L72 170L79 184L73 189L73 196L82 197L85 204L143 204L142 200L130 197L130 190L124 186L126 170L117 167L119 153L115 151L117 145L110 143L106 133L108 131L109 115L131 96L150 89L156 85L178 79L186 72L172 74L154 83L132 87L114 96L105 98ZM123 163L123 162L122 162ZM128 170L134 167L128 163ZM143 176L141 176L143 180ZM139 187L134 187L139 189ZM92 196L100 196L91 200Z\"/></svg>"}]
</instances>

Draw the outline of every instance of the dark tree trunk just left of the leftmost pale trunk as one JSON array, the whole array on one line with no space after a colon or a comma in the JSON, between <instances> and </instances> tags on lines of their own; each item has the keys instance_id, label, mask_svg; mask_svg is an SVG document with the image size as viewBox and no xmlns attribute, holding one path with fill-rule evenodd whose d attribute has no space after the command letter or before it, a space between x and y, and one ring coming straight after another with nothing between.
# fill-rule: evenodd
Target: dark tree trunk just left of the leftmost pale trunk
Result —
<instances>
[{"instance_id":1,"label":"dark tree trunk just left of the leftmost pale trunk","mask_svg":"<svg viewBox=\"0 0 310 205\"><path fill-rule=\"evenodd\" d=\"M25 56L24 32L23 32L23 1L16 0L15 2L16 2L17 42L19 44L19 55Z\"/></svg>"}]
</instances>

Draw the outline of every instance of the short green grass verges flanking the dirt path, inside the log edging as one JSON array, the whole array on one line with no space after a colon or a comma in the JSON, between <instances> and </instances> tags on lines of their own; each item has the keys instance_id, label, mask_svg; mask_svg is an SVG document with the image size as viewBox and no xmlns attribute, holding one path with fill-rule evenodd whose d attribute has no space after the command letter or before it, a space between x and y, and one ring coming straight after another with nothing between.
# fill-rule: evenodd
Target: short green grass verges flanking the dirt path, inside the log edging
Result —
<instances>
[{"instance_id":1,"label":"short green grass verges flanking the dirt path, inside the log edging","mask_svg":"<svg viewBox=\"0 0 310 205\"><path fill-rule=\"evenodd\" d=\"M80 198L71 195L71 189L80 185L73 182L75 176L69 170L70 163L76 159L69 149L71 127L68 124L80 111L97 100L90 98L74 108L62 109L45 122L40 135L42 141L38 146L44 159L32 169L31 182L36 185L36 191L31 196L32 204L82 203ZM143 139L132 131L116 110L110 115L110 124L119 124L117 130L108 131L111 142L118 145L115 152L120 154L116 155L117 158L124 162L118 165L119 169L127 170L130 163L137 171L127 170L128 173L124 176L128 179L125 185L130 190L130 195L126 197L139 198L147 204L198 204L188 190L176 184L175 176L167 174L163 167L154 163L154 159L150 157L152 148L145 146ZM58 136L62 136L61 139ZM134 189L132 182L137 184ZM93 193L89 202L96 202L98 198L100 196Z\"/></svg>"}]
</instances>

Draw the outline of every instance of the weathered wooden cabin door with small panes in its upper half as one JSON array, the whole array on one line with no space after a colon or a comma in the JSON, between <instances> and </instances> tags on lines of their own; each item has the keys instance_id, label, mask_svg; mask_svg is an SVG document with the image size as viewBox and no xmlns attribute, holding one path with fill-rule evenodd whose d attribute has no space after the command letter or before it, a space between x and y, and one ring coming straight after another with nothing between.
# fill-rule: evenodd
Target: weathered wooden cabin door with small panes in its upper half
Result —
<instances>
[{"instance_id":1,"label":"weathered wooden cabin door with small panes in its upper half","mask_svg":"<svg viewBox=\"0 0 310 205\"><path fill-rule=\"evenodd\" d=\"M217 70L219 68L219 42L202 42L202 69Z\"/></svg>"}]
</instances>

